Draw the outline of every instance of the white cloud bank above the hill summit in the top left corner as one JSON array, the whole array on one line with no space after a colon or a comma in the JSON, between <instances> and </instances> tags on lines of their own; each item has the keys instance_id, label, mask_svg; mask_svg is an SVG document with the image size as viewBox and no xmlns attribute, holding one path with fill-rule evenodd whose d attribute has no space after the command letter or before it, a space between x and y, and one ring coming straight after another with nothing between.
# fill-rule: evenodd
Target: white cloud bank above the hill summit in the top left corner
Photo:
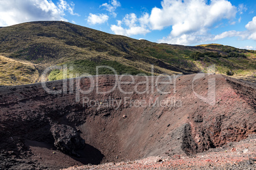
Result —
<instances>
[{"instance_id":1,"label":"white cloud bank above the hill summit in the top left corner","mask_svg":"<svg viewBox=\"0 0 256 170\"><path fill-rule=\"evenodd\" d=\"M74 3L69 4L64 0L57 5L48 0L0 1L0 26L38 20L66 20L66 11L78 15L74 13L74 7Z\"/></svg>"}]
</instances>

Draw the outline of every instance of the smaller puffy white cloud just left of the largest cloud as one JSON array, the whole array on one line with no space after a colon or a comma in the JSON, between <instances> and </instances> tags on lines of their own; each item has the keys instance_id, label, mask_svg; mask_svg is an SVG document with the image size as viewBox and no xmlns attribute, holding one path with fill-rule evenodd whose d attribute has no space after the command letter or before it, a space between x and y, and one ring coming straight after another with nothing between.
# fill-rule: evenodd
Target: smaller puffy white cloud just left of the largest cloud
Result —
<instances>
[{"instance_id":1,"label":"smaller puffy white cloud just left of the largest cloud","mask_svg":"<svg viewBox=\"0 0 256 170\"><path fill-rule=\"evenodd\" d=\"M127 14L122 21L117 21L117 25L111 25L110 29L115 34L122 36L145 35L150 30L147 29L146 22L143 18L148 18L148 14L143 15L141 18L137 18L134 13Z\"/></svg>"}]
</instances>

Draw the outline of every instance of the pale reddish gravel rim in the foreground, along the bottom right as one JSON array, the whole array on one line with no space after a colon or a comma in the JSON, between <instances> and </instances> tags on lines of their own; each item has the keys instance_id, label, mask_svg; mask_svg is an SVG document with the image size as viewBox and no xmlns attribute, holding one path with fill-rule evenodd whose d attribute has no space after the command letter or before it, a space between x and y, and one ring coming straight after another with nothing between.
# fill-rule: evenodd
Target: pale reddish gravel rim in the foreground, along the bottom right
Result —
<instances>
[{"instance_id":1,"label":"pale reddish gravel rim in the foreground, along the bottom right","mask_svg":"<svg viewBox=\"0 0 256 170\"><path fill-rule=\"evenodd\" d=\"M256 135L239 142L229 143L220 148L193 156L147 157L145 159L109 162L100 165L73 166L66 170L78 169L256 169Z\"/></svg>"}]
</instances>

